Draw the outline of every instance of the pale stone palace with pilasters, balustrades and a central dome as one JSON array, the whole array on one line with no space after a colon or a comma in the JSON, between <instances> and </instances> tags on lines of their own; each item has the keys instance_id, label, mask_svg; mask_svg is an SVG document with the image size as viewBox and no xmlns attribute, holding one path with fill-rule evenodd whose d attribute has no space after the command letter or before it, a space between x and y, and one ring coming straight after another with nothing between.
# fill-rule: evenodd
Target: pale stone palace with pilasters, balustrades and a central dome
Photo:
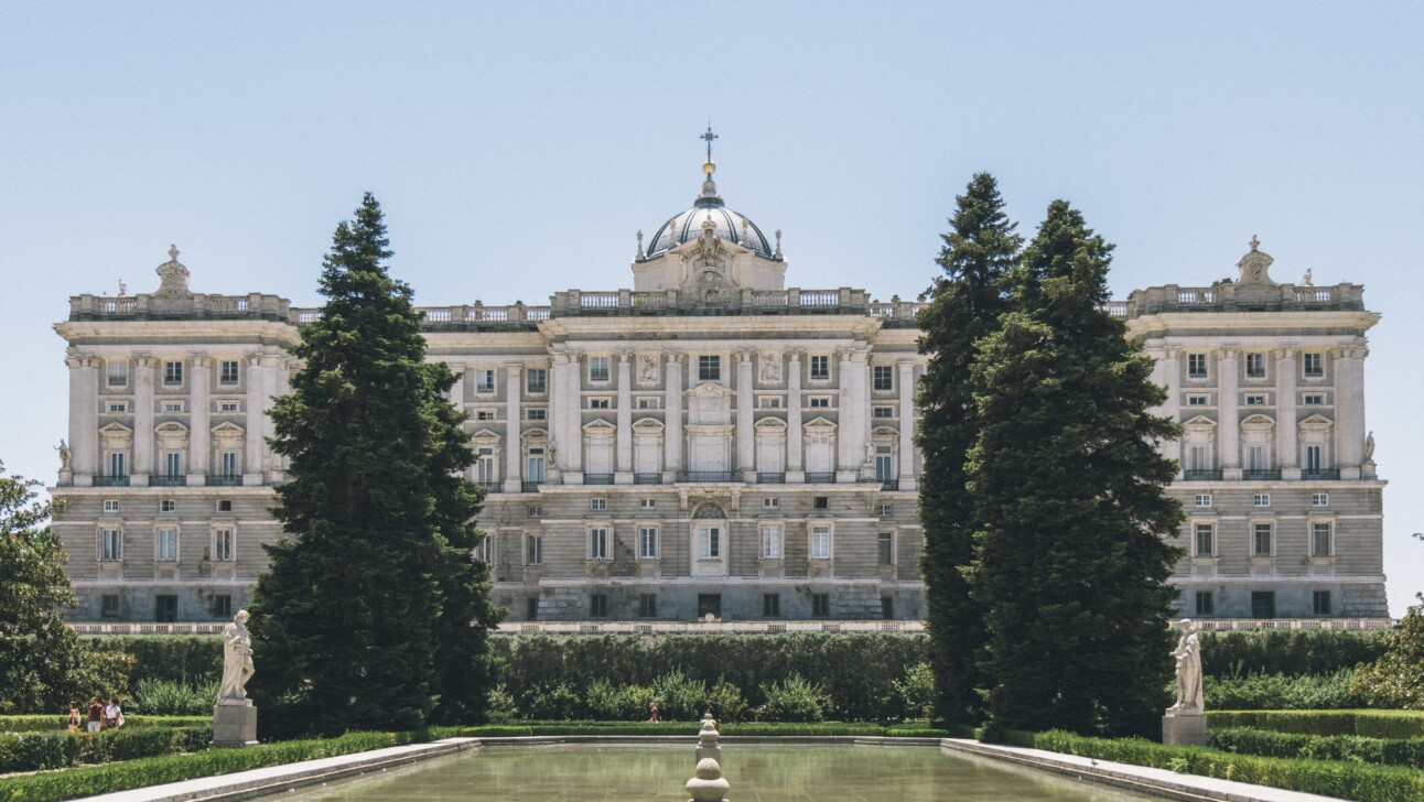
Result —
<instances>
[{"instance_id":1,"label":"pale stone palace with pilasters, balustrades and a central dome","mask_svg":"<svg viewBox=\"0 0 1424 802\"><path fill-rule=\"evenodd\" d=\"M488 490L496 601L523 620L921 618L914 302L786 288L773 239L705 165L634 288L424 308ZM75 621L225 618L281 534L263 437L316 309L161 286L71 298L70 430L53 489ZM1158 359L1186 437L1173 493L1195 615L1383 615L1357 285L1276 285L1256 251L1209 289L1112 312Z\"/></svg>"}]
</instances>

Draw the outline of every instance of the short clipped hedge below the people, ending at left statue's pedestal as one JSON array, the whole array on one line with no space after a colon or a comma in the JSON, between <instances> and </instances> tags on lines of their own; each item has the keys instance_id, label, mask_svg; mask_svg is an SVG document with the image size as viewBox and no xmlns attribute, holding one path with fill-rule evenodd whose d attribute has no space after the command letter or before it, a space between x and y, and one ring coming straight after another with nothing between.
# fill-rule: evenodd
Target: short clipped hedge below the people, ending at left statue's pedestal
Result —
<instances>
[{"instance_id":1,"label":"short clipped hedge below the people, ending at left statue's pedestal","mask_svg":"<svg viewBox=\"0 0 1424 802\"><path fill-rule=\"evenodd\" d=\"M212 727L147 727L104 732L0 732L0 774L132 761L206 749Z\"/></svg>"}]
</instances>

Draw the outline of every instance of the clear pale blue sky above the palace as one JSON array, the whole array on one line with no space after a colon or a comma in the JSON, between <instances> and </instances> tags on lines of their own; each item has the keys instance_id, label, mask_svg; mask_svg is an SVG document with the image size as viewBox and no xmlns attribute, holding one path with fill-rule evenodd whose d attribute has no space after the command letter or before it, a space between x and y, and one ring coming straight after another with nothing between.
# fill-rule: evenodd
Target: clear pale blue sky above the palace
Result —
<instances>
[{"instance_id":1,"label":"clear pale blue sky above the palace","mask_svg":"<svg viewBox=\"0 0 1424 802\"><path fill-rule=\"evenodd\" d=\"M1424 590L1418 3L0 4L0 459L54 481L67 299L316 303L336 222L387 212L416 302L631 286L698 134L787 283L913 298L980 170L1021 231L1068 198L1115 296L1358 282L1391 611ZM1415 410L1415 412L1410 412ZM1413 416L1413 417L1411 417ZM1414 456L1410 456L1414 454Z\"/></svg>"}]
</instances>

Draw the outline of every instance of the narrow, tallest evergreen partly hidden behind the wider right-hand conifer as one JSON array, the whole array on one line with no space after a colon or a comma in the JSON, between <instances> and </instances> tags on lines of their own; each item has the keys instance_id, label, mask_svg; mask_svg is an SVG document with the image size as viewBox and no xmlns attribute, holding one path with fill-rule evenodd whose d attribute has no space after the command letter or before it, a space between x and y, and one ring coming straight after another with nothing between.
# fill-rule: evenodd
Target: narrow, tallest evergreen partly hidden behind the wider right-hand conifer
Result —
<instances>
[{"instance_id":1,"label":"narrow, tallest evergreen partly hidden behind the wider right-hand conifer","mask_svg":"<svg viewBox=\"0 0 1424 802\"><path fill-rule=\"evenodd\" d=\"M1008 274L1022 238L1004 214L998 184L974 175L956 202L953 229L936 264L944 275L930 288L920 312L920 353L928 365L917 403L924 416L917 433L924 470L920 520L924 524L921 568L928 604L930 657L936 718L973 722L980 715L975 660L983 645L984 613L970 597L963 570L974 550L974 506L965 491L965 454L978 439L978 410L970 392L974 343L998 328L1008 311Z\"/></svg>"}]
</instances>

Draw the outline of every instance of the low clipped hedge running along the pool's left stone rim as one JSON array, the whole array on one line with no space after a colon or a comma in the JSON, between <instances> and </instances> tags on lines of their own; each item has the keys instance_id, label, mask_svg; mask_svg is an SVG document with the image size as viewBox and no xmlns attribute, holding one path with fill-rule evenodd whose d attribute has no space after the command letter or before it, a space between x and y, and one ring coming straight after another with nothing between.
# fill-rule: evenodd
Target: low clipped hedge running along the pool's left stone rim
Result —
<instances>
[{"instance_id":1,"label":"low clipped hedge running along the pool's left stone rim","mask_svg":"<svg viewBox=\"0 0 1424 802\"><path fill-rule=\"evenodd\" d=\"M61 799L112 793L199 776L367 752L426 738L424 732L347 732L340 738L282 741L246 749L211 749L194 755L168 755L101 766L80 766L60 772L9 776L0 778L0 802L60 802Z\"/></svg>"}]
</instances>

